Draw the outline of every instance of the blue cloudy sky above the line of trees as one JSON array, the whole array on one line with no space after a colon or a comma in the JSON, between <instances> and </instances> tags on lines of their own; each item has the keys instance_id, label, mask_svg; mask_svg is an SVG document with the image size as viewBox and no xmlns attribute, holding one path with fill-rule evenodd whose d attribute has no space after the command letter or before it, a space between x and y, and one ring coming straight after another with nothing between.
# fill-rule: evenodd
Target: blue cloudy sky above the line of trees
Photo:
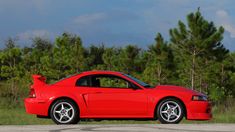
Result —
<instances>
[{"instance_id":1,"label":"blue cloudy sky above the line of trees","mask_svg":"<svg viewBox=\"0 0 235 132\"><path fill-rule=\"evenodd\" d=\"M79 35L84 46L147 48L158 32L169 41L169 29L200 7L206 20L225 28L223 44L235 51L234 5L234 0L0 0L0 48L9 37L23 47L34 37L53 41L63 32Z\"/></svg>"}]
</instances>

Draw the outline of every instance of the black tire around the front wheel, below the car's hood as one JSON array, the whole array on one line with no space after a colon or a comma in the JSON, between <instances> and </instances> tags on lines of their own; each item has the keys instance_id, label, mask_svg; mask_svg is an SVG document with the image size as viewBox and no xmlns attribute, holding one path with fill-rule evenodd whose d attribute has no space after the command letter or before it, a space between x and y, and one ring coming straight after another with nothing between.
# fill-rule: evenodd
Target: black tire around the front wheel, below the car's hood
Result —
<instances>
[{"instance_id":1,"label":"black tire around the front wheel, below the car's hood","mask_svg":"<svg viewBox=\"0 0 235 132\"><path fill-rule=\"evenodd\" d=\"M181 115L180 115L180 117L179 117L176 121L174 121L174 122L165 121L165 120L162 118L161 114L160 114L160 112L161 112L161 110L160 110L161 106L162 106L165 102L167 102L167 101L173 101L173 102L177 103L177 104L179 105L180 109L181 109ZM157 118L158 118L158 120L159 120L162 124L177 124L177 123L179 123L179 122L183 119L184 114L185 114L185 110L184 110L183 104L181 103L181 101L179 101L178 99L175 99L175 98L167 98L167 99L162 100L162 101L159 103L159 105L157 106L157 111L156 111L156 112L157 112Z\"/></svg>"}]
</instances>

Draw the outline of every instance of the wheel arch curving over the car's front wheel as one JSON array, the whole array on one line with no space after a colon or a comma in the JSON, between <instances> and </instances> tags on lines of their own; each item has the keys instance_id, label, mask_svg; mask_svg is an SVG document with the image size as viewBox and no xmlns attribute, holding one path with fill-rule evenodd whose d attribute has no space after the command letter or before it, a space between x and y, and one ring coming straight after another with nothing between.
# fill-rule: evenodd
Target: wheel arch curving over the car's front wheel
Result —
<instances>
[{"instance_id":1,"label":"wheel arch curving over the car's front wheel","mask_svg":"<svg viewBox=\"0 0 235 132\"><path fill-rule=\"evenodd\" d=\"M185 106L184 102L182 101L182 99L180 99L180 98L178 98L178 97L176 97L176 96L166 96L166 97L163 97L163 98L161 98L161 99L156 103L155 109L154 109L154 114L153 114L153 115L154 115L154 119L157 119L157 108L158 108L159 104L161 103L161 101L163 101L163 100L165 100L165 99L170 99L170 98L176 99L176 100L178 100L178 101L181 102L181 104L183 105L183 109L184 109L184 116L185 116L185 118L187 119L187 109L186 109L186 106Z\"/></svg>"}]
</instances>

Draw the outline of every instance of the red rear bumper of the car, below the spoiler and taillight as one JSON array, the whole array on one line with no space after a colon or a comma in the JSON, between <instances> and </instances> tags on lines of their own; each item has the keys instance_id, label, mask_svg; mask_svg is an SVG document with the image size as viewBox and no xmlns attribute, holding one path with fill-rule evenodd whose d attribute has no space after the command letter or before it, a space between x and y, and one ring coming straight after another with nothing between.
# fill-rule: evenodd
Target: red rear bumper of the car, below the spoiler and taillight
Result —
<instances>
[{"instance_id":1,"label":"red rear bumper of the car, below the spoiler and taillight","mask_svg":"<svg viewBox=\"0 0 235 132\"><path fill-rule=\"evenodd\" d=\"M46 100L37 98L26 98L24 100L25 110L29 114L48 116L48 103Z\"/></svg>"}]
</instances>

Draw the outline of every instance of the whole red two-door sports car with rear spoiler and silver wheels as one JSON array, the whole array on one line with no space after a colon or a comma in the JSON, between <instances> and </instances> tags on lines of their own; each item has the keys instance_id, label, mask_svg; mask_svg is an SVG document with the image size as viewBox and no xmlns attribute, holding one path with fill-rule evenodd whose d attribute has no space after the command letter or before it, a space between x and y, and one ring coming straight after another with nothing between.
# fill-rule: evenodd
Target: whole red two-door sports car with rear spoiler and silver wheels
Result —
<instances>
[{"instance_id":1,"label":"whole red two-door sports car with rear spoiler and silver wheels","mask_svg":"<svg viewBox=\"0 0 235 132\"><path fill-rule=\"evenodd\" d=\"M26 112L49 117L57 124L80 119L158 119L161 123L209 120L207 96L179 86L152 87L130 75L113 71L88 71L46 84L33 75L25 99Z\"/></svg>"}]
</instances>

